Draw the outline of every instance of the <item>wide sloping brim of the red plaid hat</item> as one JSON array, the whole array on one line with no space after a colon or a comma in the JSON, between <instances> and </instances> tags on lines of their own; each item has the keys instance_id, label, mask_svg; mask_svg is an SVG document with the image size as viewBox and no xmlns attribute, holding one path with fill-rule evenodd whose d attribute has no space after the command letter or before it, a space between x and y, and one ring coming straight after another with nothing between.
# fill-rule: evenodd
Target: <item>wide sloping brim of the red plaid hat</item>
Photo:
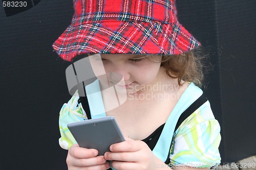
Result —
<instances>
[{"instance_id":1,"label":"wide sloping brim of the red plaid hat","mask_svg":"<svg viewBox=\"0 0 256 170\"><path fill-rule=\"evenodd\" d=\"M175 23L101 21L69 26L53 48L64 60L81 54L176 55L200 43Z\"/></svg>"}]
</instances>

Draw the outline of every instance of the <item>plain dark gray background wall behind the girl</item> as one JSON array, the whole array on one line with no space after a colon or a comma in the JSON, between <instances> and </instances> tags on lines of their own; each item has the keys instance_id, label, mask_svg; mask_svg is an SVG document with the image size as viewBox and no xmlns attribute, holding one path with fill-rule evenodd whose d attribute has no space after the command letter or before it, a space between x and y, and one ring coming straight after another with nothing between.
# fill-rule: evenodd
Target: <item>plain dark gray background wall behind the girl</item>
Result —
<instances>
[{"instance_id":1,"label":"plain dark gray background wall behind the girl","mask_svg":"<svg viewBox=\"0 0 256 170\"><path fill-rule=\"evenodd\" d=\"M182 25L209 52L204 90L222 128L222 162L256 155L255 1L177 1ZM67 169L58 114L70 99L52 43L73 2L44 1L6 17L0 7L0 169Z\"/></svg>"}]
</instances>

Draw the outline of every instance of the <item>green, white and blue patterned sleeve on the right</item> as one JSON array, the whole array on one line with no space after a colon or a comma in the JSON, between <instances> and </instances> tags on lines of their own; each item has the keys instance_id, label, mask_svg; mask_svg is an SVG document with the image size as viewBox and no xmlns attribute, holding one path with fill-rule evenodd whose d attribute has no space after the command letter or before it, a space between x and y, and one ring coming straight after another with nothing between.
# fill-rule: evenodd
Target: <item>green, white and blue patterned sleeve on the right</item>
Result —
<instances>
[{"instance_id":1,"label":"green, white and blue patterned sleeve on the right","mask_svg":"<svg viewBox=\"0 0 256 170\"><path fill-rule=\"evenodd\" d=\"M210 167L220 164L220 125L207 101L188 116L174 133L170 164Z\"/></svg>"}]
</instances>

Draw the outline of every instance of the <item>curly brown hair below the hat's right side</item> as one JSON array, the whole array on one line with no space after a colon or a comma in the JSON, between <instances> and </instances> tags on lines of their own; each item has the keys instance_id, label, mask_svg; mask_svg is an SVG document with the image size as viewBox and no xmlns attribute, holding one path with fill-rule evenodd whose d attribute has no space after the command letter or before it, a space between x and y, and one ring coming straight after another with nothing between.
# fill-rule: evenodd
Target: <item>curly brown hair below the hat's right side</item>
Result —
<instances>
[{"instance_id":1,"label":"curly brown hair below the hat's right side","mask_svg":"<svg viewBox=\"0 0 256 170\"><path fill-rule=\"evenodd\" d=\"M162 56L161 66L165 68L169 77L178 79L179 85L183 80L193 82L201 87L204 78L202 59L205 57L198 50L179 55Z\"/></svg>"}]
</instances>

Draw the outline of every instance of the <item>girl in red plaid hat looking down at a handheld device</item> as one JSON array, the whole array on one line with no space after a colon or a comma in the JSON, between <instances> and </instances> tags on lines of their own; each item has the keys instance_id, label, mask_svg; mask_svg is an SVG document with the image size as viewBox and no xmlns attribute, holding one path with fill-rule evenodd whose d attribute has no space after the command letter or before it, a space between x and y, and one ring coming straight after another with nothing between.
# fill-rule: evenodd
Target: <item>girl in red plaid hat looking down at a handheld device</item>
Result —
<instances>
[{"instance_id":1,"label":"girl in red plaid hat looking down at a handheld device","mask_svg":"<svg viewBox=\"0 0 256 170\"><path fill-rule=\"evenodd\" d=\"M191 50L200 43L178 22L175 1L75 0L74 9L71 26L53 47L67 61L89 56L97 80L86 86L90 114L78 91L60 111L59 143L69 149L68 168L195 169L220 163L220 126L196 86L202 72ZM91 95L91 87L100 94ZM80 148L67 129L68 123L110 115L126 141L103 156Z\"/></svg>"}]
</instances>

